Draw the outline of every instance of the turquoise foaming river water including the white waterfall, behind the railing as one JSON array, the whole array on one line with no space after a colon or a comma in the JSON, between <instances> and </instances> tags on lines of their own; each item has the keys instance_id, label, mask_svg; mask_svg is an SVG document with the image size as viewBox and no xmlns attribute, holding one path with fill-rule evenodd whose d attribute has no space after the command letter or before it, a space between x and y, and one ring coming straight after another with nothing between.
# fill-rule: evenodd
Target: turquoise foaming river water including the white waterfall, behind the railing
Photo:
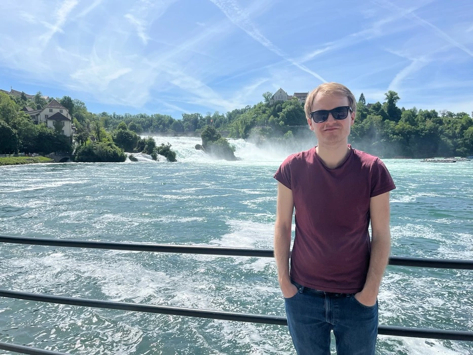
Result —
<instances>
[{"instance_id":1,"label":"turquoise foaming river water including the white waterfall, behind the railing","mask_svg":"<svg viewBox=\"0 0 473 355\"><path fill-rule=\"evenodd\" d=\"M0 167L0 234L272 248L272 176L289 152L235 140L242 160L213 161L198 138L156 140L179 162ZM391 254L473 259L473 162L384 162L397 186ZM0 261L7 290L284 315L270 258L1 244ZM472 285L472 271L388 266L380 324L472 331ZM0 341L74 354L295 353L282 326L7 298ZM472 354L473 344L379 336L378 353Z\"/></svg>"}]
</instances>

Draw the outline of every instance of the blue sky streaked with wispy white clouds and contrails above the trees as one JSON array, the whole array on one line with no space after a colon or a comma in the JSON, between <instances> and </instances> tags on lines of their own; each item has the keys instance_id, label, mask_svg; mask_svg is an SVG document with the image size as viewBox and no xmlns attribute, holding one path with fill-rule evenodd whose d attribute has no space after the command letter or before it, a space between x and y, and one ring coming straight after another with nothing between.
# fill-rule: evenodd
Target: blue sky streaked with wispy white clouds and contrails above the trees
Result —
<instances>
[{"instance_id":1,"label":"blue sky streaked with wispy white clouds and contrails above the trees","mask_svg":"<svg viewBox=\"0 0 473 355\"><path fill-rule=\"evenodd\" d=\"M225 113L323 81L473 111L471 0L2 0L0 88L91 112Z\"/></svg>"}]
</instances>

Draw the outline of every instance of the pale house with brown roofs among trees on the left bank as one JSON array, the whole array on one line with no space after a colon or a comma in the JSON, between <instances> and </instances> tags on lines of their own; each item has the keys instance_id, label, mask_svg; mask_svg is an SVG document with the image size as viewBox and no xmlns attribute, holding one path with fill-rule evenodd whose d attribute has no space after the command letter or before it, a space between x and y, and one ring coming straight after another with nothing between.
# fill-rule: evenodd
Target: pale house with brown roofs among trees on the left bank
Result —
<instances>
[{"instance_id":1,"label":"pale house with brown roofs among trees on the left bank","mask_svg":"<svg viewBox=\"0 0 473 355\"><path fill-rule=\"evenodd\" d=\"M44 109L31 110L31 108L25 106L21 110L29 115L36 124L44 122L52 129L55 129L55 126L60 125L62 126L62 134L65 136L70 137L74 134L74 127L71 122L69 111L54 99L51 100Z\"/></svg>"}]
</instances>

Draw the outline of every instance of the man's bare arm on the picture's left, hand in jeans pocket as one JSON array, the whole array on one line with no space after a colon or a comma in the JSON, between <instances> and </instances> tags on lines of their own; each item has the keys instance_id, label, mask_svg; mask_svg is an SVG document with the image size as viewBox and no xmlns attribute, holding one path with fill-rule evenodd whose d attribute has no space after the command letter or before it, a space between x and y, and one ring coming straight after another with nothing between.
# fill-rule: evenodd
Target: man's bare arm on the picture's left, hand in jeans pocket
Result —
<instances>
[{"instance_id":1,"label":"man's bare arm on the picture's left, hand in jeans pocket","mask_svg":"<svg viewBox=\"0 0 473 355\"><path fill-rule=\"evenodd\" d=\"M294 199L292 190L279 182L277 191L274 258L282 295L289 298L297 293L297 287L290 282L289 277L290 228L293 223Z\"/></svg>"}]
</instances>

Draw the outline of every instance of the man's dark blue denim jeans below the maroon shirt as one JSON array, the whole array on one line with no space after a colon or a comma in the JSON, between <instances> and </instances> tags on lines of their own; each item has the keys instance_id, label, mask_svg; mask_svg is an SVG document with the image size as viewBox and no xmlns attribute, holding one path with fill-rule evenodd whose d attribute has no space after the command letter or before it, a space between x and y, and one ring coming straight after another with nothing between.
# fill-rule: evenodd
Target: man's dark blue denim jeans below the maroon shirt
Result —
<instances>
[{"instance_id":1,"label":"man's dark blue denim jeans below the maroon shirt","mask_svg":"<svg viewBox=\"0 0 473 355\"><path fill-rule=\"evenodd\" d=\"M317 291L294 282L299 292L285 298L287 324L299 355L329 355L334 331L338 355L374 355L378 302L359 303L354 294Z\"/></svg>"}]
</instances>

